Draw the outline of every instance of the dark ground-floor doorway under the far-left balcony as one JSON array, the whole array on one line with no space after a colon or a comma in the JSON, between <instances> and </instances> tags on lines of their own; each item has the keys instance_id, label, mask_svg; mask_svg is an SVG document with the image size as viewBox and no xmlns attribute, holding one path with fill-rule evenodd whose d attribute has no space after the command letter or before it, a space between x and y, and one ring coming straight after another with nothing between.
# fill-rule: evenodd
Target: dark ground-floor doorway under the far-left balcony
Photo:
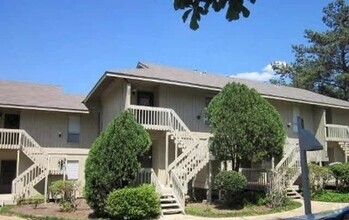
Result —
<instances>
[{"instance_id":1,"label":"dark ground-floor doorway under the far-left balcony","mask_svg":"<svg viewBox=\"0 0 349 220\"><path fill-rule=\"evenodd\" d=\"M16 178L16 161L2 160L0 166L0 193L11 193L12 180Z\"/></svg>"}]
</instances>

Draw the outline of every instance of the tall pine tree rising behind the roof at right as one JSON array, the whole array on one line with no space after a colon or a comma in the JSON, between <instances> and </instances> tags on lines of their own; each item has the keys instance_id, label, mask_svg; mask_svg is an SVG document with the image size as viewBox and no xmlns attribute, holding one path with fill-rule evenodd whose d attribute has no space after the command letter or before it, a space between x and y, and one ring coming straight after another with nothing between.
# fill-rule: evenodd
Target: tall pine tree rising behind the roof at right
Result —
<instances>
[{"instance_id":1,"label":"tall pine tree rising behind the roof at right","mask_svg":"<svg viewBox=\"0 0 349 220\"><path fill-rule=\"evenodd\" d=\"M294 86L349 100L349 6L344 0L328 4L323 23L328 30L305 30L309 45L293 45L295 61L274 64L280 80L274 83ZM272 82L273 83L273 82Z\"/></svg>"}]
</instances>

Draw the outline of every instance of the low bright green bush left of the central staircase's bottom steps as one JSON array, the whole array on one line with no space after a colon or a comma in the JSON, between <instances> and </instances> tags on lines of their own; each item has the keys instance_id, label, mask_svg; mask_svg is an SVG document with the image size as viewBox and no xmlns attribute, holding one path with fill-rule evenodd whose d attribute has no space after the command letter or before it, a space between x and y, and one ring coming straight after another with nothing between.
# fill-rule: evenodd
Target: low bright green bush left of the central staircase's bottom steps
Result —
<instances>
[{"instance_id":1,"label":"low bright green bush left of the central staircase's bottom steps","mask_svg":"<svg viewBox=\"0 0 349 220\"><path fill-rule=\"evenodd\" d=\"M160 214L160 200L152 185L118 189L108 196L106 211L118 219L154 218Z\"/></svg>"}]
</instances>

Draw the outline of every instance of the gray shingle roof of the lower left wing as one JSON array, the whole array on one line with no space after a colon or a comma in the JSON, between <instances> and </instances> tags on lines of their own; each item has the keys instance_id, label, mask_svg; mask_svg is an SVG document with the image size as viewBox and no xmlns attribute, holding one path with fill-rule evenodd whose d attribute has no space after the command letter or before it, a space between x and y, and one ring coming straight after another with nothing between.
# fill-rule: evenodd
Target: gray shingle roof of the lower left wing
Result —
<instances>
[{"instance_id":1,"label":"gray shingle roof of the lower left wing","mask_svg":"<svg viewBox=\"0 0 349 220\"><path fill-rule=\"evenodd\" d=\"M0 80L0 107L88 112L83 99L63 93L59 86Z\"/></svg>"}]
</instances>

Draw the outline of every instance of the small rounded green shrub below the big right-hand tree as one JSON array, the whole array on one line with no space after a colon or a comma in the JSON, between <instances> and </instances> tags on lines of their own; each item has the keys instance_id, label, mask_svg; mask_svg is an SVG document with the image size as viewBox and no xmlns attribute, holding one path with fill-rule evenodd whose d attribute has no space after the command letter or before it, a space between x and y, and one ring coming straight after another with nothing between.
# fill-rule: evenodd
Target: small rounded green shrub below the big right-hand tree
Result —
<instances>
[{"instance_id":1,"label":"small rounded green shrub below the big right-hand tree","mask_svg":"<svg viewBox=\"0 0 349 220\"><path fill-rule=\"evenodd\" d=\"M237 193L244 190L247 185L246 177L241 173L233 170L221 171L217 174L214 184L217 189L222 190L224 200L228 205L231 205L234 201L243 202L238 199L233 199L237 197Z\"/></svg>"}]
</instances>

